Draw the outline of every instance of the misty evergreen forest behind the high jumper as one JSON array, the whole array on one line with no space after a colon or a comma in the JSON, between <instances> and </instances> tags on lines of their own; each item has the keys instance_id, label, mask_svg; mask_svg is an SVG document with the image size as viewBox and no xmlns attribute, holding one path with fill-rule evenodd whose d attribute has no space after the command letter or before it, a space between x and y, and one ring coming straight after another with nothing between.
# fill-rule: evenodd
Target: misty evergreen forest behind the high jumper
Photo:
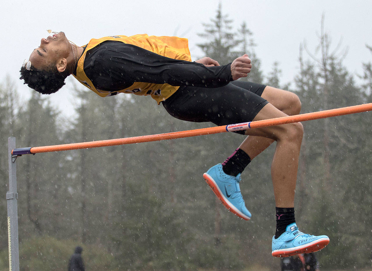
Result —
<instances>
[{"instance_id":1,"label":"misty evergreen forest behind the high jumper","mask_svg":"<svg viewBox=\"0 0 372 271\"><path fill-rule=\"evenodd\" d=\"M364 74L351 74L342 61L346 46L332 43L323 24L314 29L320 33L317 48L299 45L299 73L282 84L278 63L271 71L260 69L249 26L242 22L233 29L231 23L219 7L204 24L198 46L205 55L222 65L248 53L254 69L245 80L295 92L302 113L372 102L371 55L360 63ZM15 136L17 147L31 147L212 126L176 120L150 97L102 99L80 85L71 91L76 108L67 119L36 92L28 101L17 99L12 78L0 86L1 270L9 268L7 137ZM304 232L330 237L316 254L321 270L367 270L372 267L371 113L303 124L296 221ZM271 256L275 144L242 174L243 197L253 215L249 222L227 212L202 178L243 139L224 133L18 158L21 270L67 270L76 245L83 246L90 271L279 270L279 259Z\"/></svg>"}]
</instances>

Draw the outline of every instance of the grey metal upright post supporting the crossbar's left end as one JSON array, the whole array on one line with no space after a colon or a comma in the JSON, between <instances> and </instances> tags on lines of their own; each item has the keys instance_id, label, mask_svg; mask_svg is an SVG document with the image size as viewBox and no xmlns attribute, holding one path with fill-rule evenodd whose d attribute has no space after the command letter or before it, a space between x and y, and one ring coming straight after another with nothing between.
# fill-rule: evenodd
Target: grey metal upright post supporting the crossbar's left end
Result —
<instances>
[{"instance_id":1,"label":"grey metal upright post supporting the crossbar's left end","mask_svg":"<svg viewBox=\"0 0 372 271\"><path fill-rule=\"evenodd\" d=\"M12 150L15 147L16 138L8 137L9 191L6 193L6 201L8 209L9 271L19 271L16 156L14 158L12 156Z\"/></svg>"}]
</instances>

